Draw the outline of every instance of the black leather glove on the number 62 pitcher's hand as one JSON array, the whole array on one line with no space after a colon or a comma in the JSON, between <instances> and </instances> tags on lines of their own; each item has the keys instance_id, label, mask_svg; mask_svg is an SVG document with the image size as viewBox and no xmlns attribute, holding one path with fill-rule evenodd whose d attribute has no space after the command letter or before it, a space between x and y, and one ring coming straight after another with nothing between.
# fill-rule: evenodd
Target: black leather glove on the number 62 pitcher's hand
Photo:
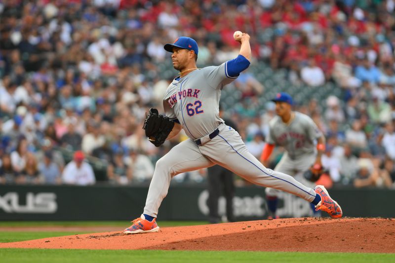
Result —
<instances>
[{"instance_id":1,"label":"black leather glove on the number 62 pitcher's hand","mask_svg":"<svg viewBox=\"0 0 395 263\"><path fill-rule=\"evenodd\" d=\"M157 109L151 108L144 121L143 129L148 140L156 147L164 143L174 127L174 122L169 117L158 113Z\"/></svg>"}]
</instances>

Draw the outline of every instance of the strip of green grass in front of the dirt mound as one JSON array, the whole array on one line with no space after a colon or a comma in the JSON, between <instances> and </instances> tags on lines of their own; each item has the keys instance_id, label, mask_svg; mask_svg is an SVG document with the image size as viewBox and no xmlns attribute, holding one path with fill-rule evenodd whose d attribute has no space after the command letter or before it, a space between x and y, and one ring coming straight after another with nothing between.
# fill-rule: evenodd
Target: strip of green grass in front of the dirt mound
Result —
<instances>
[{"instance_id":1,"label":"strip of green grass in front of the dirt mound","mask_svg":"<svg viewBox=\"0 0 395 263\"><path fill-rule=\"evenodd\" d=\"M42 263L243 263L243 262L394 262L395 254L281 253L224 251L0 249L0 262Z\"/></svg>"}]
</instances>

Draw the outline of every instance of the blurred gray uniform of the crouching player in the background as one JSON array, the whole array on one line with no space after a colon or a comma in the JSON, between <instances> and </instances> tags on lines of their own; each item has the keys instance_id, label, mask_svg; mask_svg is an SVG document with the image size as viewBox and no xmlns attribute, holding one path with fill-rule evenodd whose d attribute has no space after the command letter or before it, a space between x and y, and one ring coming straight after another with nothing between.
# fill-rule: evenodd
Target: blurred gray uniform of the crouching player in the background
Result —
<instances>
[{"instance_id":1,"label":"blurred gray uniform of the crouching player in the background","mask_svg":"<svg viewBox=\"0 0 395 263\"><path fill-rule=\"evenodd\" d=\"M279 116L270 121L266 142L285 149L275 171L296 176L300 182L313 187L314 183L305 180L302 174L316 160L316 139L320 138L322 133L309 116L294 113L295 118L289 125L285 124ZM265 192L269 196L276 196L278 190L266 188Z\"/></svg>"}]
</instances>

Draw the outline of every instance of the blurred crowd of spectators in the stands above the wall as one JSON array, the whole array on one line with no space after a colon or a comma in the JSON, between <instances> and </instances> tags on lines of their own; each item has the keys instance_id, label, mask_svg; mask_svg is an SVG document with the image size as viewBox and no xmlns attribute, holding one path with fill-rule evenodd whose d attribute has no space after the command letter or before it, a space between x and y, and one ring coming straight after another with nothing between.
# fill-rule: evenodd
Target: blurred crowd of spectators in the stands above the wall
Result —
<instances>
[{"instance_id":1,"label":"blurred crowd of spectators in the stands above the wall","mask_svg":"<svg viewBox=\"0 0 395 263\"><path fill-rule=\"evenodd\" d=\"M327 185L394 187L394 9L394 0L4 0L0 183L148 182L156 160L186 139L156 148L142 130L177 75L163 44L190 36L198 66L218 65L237 56L237 29L251 36L251 67L285 69L295 86L342 88L325 105L295 107L326 135ZM231 86L244 104L281 90L248 71ZM273 104L226 110L259 157ZM204 173L175 179L200 182Z\"/></svg>"}]
</instances>

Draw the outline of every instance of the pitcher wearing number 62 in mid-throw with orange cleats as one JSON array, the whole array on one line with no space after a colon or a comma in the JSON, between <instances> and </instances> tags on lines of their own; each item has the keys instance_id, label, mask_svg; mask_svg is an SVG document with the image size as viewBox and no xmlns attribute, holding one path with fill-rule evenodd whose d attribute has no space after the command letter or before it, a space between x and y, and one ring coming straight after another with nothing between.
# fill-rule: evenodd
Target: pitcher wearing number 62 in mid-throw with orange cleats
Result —
<instances>
[{"instance_id":1,"label":"pitcher wearing number 62 in mid-throw with orange cleats","mask_svg":"<svg viewBox=\"0 0 395 263\"><path fill-rule=\"evenodd\" d=\"M256 185L300 196L331 217L342 216L340 206L329 197L324 187L308 188L289 175L267 169L248 152L237 131L225 125L219 117L221 89L250 64L249 35L239 34L235 40L241 43L237 58L203 69L196 67L198 47L194 39L180 37L173 44L164 45L165 50L172 52L173 67L180 71L180 76L170 83L164 95L163 107L167 116L151 109L144 128L156 146L164 142L163 138L178 134L182 128L190 139L179 143L157 161L144 212L124 233L158 231L156 218L171 178L214 164Z\"/></svg>"}]
</instances>

